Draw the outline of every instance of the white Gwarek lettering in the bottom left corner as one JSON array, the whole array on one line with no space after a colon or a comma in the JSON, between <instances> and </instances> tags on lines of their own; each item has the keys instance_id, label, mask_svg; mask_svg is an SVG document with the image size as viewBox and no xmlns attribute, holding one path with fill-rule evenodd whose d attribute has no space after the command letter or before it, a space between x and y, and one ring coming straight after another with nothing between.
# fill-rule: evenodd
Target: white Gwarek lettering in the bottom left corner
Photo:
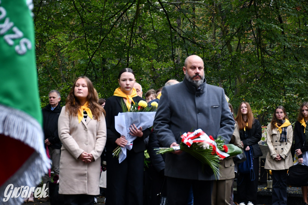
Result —
<instances>
[{"instance_id":1,"label":"white Gwarek lettering in the bottom left corner","mask_svg":"<svg viewBox=\"0 0 308 205\"><path fill-rule=\"evenodd\" d=\"M28 187L28 186L21 186L21 187L14 187L13 184L7 185L4 191L3 202L7 202L10 198L30 198L32 192L34 192L35 198L46 198L47 195L46 184L43 184L43 187Z\"/></svg>"}]
</instances>

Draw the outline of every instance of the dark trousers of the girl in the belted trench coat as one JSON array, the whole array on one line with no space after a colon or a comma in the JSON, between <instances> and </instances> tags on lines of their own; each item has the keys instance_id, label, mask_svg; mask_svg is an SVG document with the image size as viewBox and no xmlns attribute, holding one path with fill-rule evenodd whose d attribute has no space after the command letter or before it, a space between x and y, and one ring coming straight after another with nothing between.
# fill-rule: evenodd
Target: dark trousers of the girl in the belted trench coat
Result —
<instances>
[{"instance_id":1,"label":"dark trousers of the girl in the belted trench coat","mask_svg":"<svg viewBox=\"0 0 308 205\"><path fill-rule=\"evenodd\" d=\"M272 170L272 174L273 174L272 205L286 205L287 204L287 199L288 199L287 171L288 171L287 169Z\"/></svg>"}]
</instances>

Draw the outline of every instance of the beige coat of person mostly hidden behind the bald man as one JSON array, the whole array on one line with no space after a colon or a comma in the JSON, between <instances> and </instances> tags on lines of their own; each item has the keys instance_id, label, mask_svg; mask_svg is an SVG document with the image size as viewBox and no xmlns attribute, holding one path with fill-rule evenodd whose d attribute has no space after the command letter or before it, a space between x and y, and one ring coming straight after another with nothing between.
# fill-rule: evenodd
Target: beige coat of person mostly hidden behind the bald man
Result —
<instances>
[{"instance_id":1,"label":"beige coat of person mostly hidden behind the bald man","mask_svg":"<svg viewBox=\"0 0 308 205\"><path fill-rule=\"evenodd\" d=\"M237 147L243 148L241 144L240 133L238 131L237 123L235 123L234 132L233 132L233 135L232 135L232 138L229 144L234 144ZM235 177L234 162L232 158L224 159L219 164L221 166L221 168L219 168L219 173L220 173L219 180L233 179Z\"/></svg>"}]
</instances>

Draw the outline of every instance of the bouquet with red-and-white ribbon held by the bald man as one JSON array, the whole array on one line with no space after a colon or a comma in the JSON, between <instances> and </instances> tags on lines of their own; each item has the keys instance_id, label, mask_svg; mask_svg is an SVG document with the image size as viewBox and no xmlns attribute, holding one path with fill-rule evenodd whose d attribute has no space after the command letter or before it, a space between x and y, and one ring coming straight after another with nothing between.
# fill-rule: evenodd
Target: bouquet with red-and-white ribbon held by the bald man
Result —
<instances>
[{"instance_id":1,"label":"bouquet with red-and-white ribbon held by the bald man","mask_svg":"<svg viewBox=\"0 0 308 205\"><path fill-rule=\"evenodd\" d=\"M197 158L201 163L209 165L216 178L219 175L219 159L233 157L242 153L241 148L233 144L224 144L224 140L221 139L221 136L218 136L217 139L213 139L211 135L208 136L201 129L184 133L181 138L180 146L171 148L160 147L156 149L156 153L171 153L176 150L185 151Z\"/></svg>"}]
</instances>

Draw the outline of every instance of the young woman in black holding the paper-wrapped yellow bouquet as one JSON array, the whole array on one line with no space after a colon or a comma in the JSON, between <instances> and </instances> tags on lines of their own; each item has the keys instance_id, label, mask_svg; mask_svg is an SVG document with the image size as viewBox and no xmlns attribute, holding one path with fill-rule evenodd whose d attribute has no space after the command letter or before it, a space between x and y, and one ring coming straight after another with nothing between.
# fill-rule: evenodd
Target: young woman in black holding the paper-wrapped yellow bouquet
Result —
<instances>
[{"instance_id":1,"label":"young woman in black holding the paper-wrapped yellow bouquet","mask_svg":"<svg viewBox=\"0 0 308 205\"><path fill-rule=\"evenodd\" d=\"M132 69L124 68L118 76L120 87L114 95L106 100L106 158L108 164L106 203L109 205L142 205L143 203L143 166L144 166L144 138L151 133L150 129L142 130L134 124L130 128L130 134L137 136L133 141L131 150L127 150L127 156L123 162L113 157L113 150L124 147L128 141L115 130L115 116L122 111L121 101L124 100L129 109L133 103L144 100L139 97L134 88L135 74Z\"/></svg>"}]
</instances>

